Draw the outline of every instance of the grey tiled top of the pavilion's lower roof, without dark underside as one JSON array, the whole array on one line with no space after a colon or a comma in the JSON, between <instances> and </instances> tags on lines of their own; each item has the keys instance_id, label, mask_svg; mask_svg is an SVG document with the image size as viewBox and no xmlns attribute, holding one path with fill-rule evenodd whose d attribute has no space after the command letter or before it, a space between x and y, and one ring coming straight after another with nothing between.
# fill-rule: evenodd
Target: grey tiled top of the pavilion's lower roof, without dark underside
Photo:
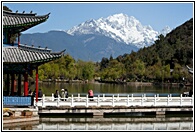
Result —
<instances>
[{"instance_id":1,"label":"grey tiled top of the pavilion's lower roof, without dark underside","mask_svg":"<svg viewBox=\"0 0 196 133\"><path fill-rule=\"evenodd\" d=\"M3 63L45 63L60 58L64 51L52 53L50 49L19 45L3 48Z\"/></svg>"}]
</instances>

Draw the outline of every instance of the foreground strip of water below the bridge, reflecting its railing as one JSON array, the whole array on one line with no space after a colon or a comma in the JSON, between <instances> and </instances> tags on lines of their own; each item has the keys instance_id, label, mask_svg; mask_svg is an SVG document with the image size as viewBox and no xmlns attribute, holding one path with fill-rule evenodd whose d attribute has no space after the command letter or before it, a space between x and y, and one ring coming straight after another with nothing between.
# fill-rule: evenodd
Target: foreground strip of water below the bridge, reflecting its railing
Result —
<instances>
[{"instance_id":1,"label":"foreground strip of water below the bridge, reflecting its railing","mask_svg":"<svg viewBox=\"0 0 196 133\"><path fill-rule=\"evenodd\" d=\"M4 130L193 130L192 117L48 118L39 124L4 127Z\"/></svg>"}]
</instances>

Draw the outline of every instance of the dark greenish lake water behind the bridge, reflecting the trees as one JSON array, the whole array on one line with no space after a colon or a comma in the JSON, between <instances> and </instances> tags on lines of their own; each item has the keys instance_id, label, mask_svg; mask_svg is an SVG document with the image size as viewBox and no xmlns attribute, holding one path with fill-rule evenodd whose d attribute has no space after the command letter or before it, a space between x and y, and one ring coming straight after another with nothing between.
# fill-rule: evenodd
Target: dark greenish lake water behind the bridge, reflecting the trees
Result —
<instances>
[{"instance_id":1,"label":"dark greenish lake water behind the bridge, reflecting the trees","mask_svg":"<svg viewBox=\"0 0 196 133\"><path fill-rule=\"evenodd\" d=\"M35 85L30 87L34 90ZM68 89L69 95L86 95L89 89L92 89L95 95L101 94L129 94L132 93L149 93L149 94L181 94L183 91L188 91L191 88L180 88L176 86L131 86L122 84L105 84L105 83L39 83L39 88L42 89L46 96L51 96L55 90L62 88Z\"/></svg>"}]
</instances>

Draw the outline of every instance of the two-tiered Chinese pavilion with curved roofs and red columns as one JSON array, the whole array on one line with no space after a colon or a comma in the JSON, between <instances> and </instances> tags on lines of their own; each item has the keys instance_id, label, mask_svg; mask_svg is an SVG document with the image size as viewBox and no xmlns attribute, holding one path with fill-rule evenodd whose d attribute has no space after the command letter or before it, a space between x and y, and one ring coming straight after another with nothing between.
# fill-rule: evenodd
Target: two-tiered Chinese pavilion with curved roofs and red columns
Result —
<instances>
[{"instance_id":1,"label":"two-tiered Chinese pavilion with curved roofs and red columns","mask_svg":"<svg viewBox=\"0 0 196 133\"><path fill-rule=\"evenodd\" d=\"M38 97L38 66L61 58L64 51L52 52L51 49L29 46L20 44L21 32L28 30L38 24L41 24L49 18L50 13L46 15L37 15L36 13L18 13L3 11L3 75L6 79L6 93L4 93L4 105L19 105L9 101L9 98L17 96L17 98L28 96L28 76L32 75L32 71L36 70L36 102ZM13 39L14 38L14 39ZM17 39L15 43L13 40ZM16 88L17 75L17 88ZM24 77L24 93L21 92L21 77ZM11 82L11 83L10 83ZM11 90L10 90L11 88ZM15 99L17 99L15 97ZM8 103L9 101L9 103ZM13 100L12 100L13 101ZM20 101L20 100L19 100ZM20 103L21 104L21 103Z\"/></svg>"}]
</instances>

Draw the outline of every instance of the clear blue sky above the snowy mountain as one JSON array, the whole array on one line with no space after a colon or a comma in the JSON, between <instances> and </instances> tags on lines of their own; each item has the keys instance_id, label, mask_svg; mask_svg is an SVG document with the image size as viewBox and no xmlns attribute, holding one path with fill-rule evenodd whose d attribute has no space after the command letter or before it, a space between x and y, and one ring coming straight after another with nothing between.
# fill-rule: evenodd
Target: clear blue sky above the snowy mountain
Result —
<instances>
[{"instance_id":1,"label":"clear blue sky above the snowy mountain","mask_svg":"<svg viewBox=\"0 0 196 133\"><path fill-rule=\"evenodd\" d=\"M23 33L47 32L50 30L68 30L89 19L108 17L117 13L134 16L142 25L150 25L160 31L165 26L174 29L191 19L193 2L39 2L39 3L3 3L13 12L33 11L37 15L51 13L49 19Z\"/></svg>"}]
</instances>

